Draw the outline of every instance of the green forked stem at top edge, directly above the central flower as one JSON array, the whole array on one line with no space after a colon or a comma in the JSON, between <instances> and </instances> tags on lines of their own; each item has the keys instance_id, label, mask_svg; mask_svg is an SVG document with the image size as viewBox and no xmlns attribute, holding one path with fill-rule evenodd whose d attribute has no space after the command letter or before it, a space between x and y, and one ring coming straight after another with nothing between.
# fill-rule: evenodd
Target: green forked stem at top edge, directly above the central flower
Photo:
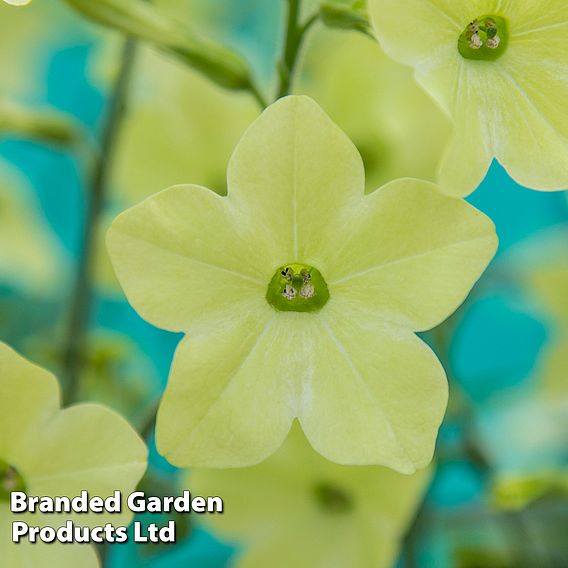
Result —
<instances>
[{"instance_id":1,"label":"green forked stem at top edge, directly above the central flower","mask_svg":"<svg viewBox=\"0 0 568 568\"><path fill-rule=\"evenodd\" d=\"M318 15L315 14L309 18L304 24L300 24L300 12L302 0L288 1L288 20L286 23L286 39L282 57L278 63L278 74L280 82L278 85L278 94L276 100L290 94L292 86L292 78L296 65L298 63L298 55L302 47L304 38L308 30L317 21Z\"/></svg>"}]
</instances>

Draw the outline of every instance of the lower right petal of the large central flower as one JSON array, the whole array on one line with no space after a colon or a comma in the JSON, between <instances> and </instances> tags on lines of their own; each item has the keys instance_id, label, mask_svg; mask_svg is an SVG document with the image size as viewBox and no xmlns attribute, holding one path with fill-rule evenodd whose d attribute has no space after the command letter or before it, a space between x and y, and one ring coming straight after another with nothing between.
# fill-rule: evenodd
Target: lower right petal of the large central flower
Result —
<instances>
[{"instance_id":1,"label":"lower right petal of the large central flower","mask_svg":"<svg viewBox=\"0 0 568 568\"><path fill-rule=\"evenodd\" d=\"M401 473L430 462L448 387L425 343L337 300L320 314L313 352L299 420L318 452Z\"/></svg>"}]
</instances>

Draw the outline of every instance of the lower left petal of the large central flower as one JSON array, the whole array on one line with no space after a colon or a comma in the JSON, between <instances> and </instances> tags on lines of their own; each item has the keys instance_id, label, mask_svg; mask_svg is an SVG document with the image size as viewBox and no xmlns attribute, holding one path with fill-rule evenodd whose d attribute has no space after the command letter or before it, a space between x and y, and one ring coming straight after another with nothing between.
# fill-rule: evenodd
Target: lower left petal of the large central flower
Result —
<instances>
[{"instance_id":1,"label":"lower left petal of the large central flower","mask_svg":"<svg viewBox=\"0 0 568 568\"><path fill-rule=\"evenodd\" d=\"M255 308L233 309L180 343L157 422L168 461L238 467L280 446L296 410L291 353L301 349L288 319L261 297Z\"/></svg>"}]
</instances>

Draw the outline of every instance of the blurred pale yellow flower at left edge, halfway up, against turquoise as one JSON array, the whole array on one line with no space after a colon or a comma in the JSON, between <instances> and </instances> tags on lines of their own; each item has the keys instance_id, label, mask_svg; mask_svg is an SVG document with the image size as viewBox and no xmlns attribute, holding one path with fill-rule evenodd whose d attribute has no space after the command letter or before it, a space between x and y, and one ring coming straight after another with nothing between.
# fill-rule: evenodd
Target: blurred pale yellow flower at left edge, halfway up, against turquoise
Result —
<instances>
[{"instance_id":1,"label":"blurred pale yellow flower at left edge, halfway up, against turquoise","mask_svg":"<svg viewBox=\"0 0 568 568\"><path fill-rule=\"evenodd\" d=\"M24 178L0 162L0 282L29 294L58 290L66 262Z\"/></svg>"}]
</instances>

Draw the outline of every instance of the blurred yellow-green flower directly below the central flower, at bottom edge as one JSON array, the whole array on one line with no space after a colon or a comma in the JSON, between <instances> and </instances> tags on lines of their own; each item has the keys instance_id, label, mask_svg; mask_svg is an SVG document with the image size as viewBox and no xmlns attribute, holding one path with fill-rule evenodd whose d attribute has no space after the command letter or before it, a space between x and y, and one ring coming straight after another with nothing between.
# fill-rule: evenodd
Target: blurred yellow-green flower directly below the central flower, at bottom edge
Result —
<instances>
[{"instance_id":1,"label":"blurred yellow-green flower directly below the central flower, at bottom edge","mask_svg":"<svg viewBox=\"0 0 568 568\"><path fill-rule=\"evenodd\" d=\"M316 454L294 427L276 454L239 470L196 470L196 495L221 495L222 515L205 522L245 545L238 568L392 566L430 471L345 467Z\"/></svg>"}]
</instances>

